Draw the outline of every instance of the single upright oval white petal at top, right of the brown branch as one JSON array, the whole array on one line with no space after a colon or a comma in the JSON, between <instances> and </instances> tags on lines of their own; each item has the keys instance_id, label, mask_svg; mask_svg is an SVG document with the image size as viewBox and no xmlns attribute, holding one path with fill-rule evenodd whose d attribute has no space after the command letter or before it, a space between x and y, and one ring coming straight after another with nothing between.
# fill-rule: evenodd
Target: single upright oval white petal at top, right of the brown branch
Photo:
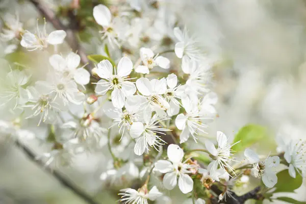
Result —
<instances>
[{"instance_id":1,"label":"single upright oval white petal at top, right of the brown branch","mask_svg":"<svg viewBox=\"0 0 306 204\"><path fill-rule=\"evenodd\" d=\"M99 4L93 8L93 17L99 25L108 26L111 22L112 14L109 8Z\"/></svg>"}]
</instances>

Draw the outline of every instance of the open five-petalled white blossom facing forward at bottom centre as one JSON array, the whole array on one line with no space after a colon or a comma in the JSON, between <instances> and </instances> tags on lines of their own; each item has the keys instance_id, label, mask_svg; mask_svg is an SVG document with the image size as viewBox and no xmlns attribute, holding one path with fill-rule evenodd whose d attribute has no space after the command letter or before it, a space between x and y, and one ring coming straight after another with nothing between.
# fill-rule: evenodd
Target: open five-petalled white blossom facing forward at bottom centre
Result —
<instances>
[{"instance_id":1,"label":"open five-petalled white blossom facing forward at bottom centre","mask_svg":"<svg viewBox=\"0 0 306 204\"><path fill-rule=\"evenodd\" d=\"M184 151L176 144L170 144L167 149L168 160L159 160L155 164L155 169L165 173L163 184L166 189L172 190L179 183L182 193L186 194L193 189L193 180L188 175L193 165L183 161ZM177 179L179 177L179 179Z\"/></svg>"}]
</instances>

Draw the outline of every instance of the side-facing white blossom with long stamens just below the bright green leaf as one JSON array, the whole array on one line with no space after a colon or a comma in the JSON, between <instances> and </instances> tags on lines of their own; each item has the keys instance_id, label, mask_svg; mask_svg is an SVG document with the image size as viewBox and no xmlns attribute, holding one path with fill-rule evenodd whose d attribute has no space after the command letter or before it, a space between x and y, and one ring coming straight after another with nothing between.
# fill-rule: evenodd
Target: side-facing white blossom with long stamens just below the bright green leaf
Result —
<instances>
[{"instance_id":1,"label":"side-facing white blossom with long stamens just below the bright green leaf","mask_svg":"<svg viewBox=\"0 0 306 204\"><path fill-rule=\"evenodd\" d=\"M234 172L234 169L231 167L230 162L234 160L233 157L233 149L232 147L239 143L240 141L231 144L228 143L228 139L224 133L221 131L217 132L217 142L218 142L218 148L215 147L215 145L211 141L206 141L205 146L207 150L212 155L212 159L214 160L212 163L212 171L216 171L218 168L218 165L220 165L220 168L226 170L230 169Z\"/></svg>"}]
</instances>

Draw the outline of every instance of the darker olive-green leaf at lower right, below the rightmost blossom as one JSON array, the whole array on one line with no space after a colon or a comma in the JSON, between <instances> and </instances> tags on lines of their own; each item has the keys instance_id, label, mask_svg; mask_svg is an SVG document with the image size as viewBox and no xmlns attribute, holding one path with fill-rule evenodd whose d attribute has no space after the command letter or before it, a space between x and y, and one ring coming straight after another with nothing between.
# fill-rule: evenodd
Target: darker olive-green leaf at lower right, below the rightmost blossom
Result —
<instances>
[{"instance_id":1,"label":"darker olive-green leaf at lower right, below the rightmost blossom","mask_svg":"<svg viewBox=\"0 0 306 204\"><path fill-rule=\"evenodd\" d=\"M298 189L303 182L303 178L299 173L296 173L295 179L289 175L288 169L285 169L277 174L277 183L274 186L276 192L294 192L295 189Z\"/></svg>"}]
</instances>

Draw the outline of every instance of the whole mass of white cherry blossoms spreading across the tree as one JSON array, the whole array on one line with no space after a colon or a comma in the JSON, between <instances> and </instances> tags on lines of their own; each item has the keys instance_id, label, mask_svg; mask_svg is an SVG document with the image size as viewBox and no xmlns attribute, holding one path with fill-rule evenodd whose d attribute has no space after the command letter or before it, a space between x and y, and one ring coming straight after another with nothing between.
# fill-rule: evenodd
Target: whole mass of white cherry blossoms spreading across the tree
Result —
<instances>
[{"instance_id":1,"label":"whole mass of white cherry blossoms spreading across the tree","mask_svg":"<svg viewBox=\"0 0 306 204\"><path fill-rule=\"evenodd\" d=\"M23 30L18 15L4 18L0 38L18 42L13 45L24 55L41 55L44 70L17 59L6 71L0 105L10 118L0 121L1 133L15 141L38 139L48 150L37 158L52 168L71 165L78 154L108 149L109 165L100 180L121 189L123 203L147 204L176 186L193 203L236 199L235 190L250 175L273 188L280 163L293 178L306 175L304 141L260 158L243 137L232 142L218 131L208 139L218 96L212 91L213 64L197 38L174 13L165 18L162 3L122 2L90 10L91 37L103 43L101 55L86 56L80 44L71 46L77 37L66 28L47 32L48 23L40 28L37 21L33 33ZM32 131L37 126L44 136ZM236 148L240 142L243 149ZM244 157L236 150L244 150ZM151 185L153 176L160 189ZM139 189L126 188L136 180Z\"/></svg>"}]
</instances>

